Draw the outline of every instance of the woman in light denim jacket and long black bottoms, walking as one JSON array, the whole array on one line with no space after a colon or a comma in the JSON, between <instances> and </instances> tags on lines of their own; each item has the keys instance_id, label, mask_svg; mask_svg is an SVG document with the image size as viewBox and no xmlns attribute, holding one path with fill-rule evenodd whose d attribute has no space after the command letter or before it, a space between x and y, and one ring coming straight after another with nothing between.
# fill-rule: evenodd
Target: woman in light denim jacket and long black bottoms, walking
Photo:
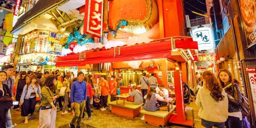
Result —
<instances>
[{"instance_id":1,"label":"woman in light denim jacket and long black bottoms, walking","mask_svg":"<svg viewBox=\"0 0 256 128\"><path fill-rule=\"evenodd\" d=\"M33 115L36 106L36 95L41 98L41 87L36 82L36 76L31 76L27 85L24 86L20 97L21 116L25 117L24 124L28 124L28 115Z\"/></svg>"}]
</instances>

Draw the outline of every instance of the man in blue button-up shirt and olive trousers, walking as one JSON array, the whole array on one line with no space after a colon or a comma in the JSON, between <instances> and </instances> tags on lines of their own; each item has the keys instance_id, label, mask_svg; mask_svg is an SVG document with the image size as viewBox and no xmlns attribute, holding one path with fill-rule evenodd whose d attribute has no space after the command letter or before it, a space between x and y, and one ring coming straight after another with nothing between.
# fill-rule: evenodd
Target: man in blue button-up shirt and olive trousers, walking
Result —
<instances>
[{"instance_id":1,"label":"man in blue button-up shirt and olive trousers, walking","mask_svg":"<svg viewBox=\"0 0 256 128\"><path fill-rule=\"evenodd\" d=\"M82 116L84 112L85 101L87 99L87 88L86 82L84 80L84 73L79 72L77 74L77 81L72 83L70 91L70 102L71 107L75 109L75 116L73 116L69 126L75 128L75 123L77 120L76 128L81 128Z\"/></svg>"}]
</instances>

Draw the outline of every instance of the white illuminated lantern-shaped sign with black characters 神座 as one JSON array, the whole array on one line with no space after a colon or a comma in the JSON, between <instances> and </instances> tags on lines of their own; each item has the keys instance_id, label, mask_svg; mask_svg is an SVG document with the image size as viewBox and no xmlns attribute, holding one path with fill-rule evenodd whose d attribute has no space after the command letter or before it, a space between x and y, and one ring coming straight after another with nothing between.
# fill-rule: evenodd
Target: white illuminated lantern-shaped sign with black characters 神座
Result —
<instances>
[{"instance_id":1,"label":"white illuminated lantern-shaped sign with black characters \u795e\u5ea7","mask_svg":"<svg viewBox=\"0 0 256 128\"><path fill-rule=\"evenodd\" d=\"M198 50L209 50L213 48L212 30L211 28L203 27L192 31L193 40L198 43Z\"/></svg>"}]
</instances>

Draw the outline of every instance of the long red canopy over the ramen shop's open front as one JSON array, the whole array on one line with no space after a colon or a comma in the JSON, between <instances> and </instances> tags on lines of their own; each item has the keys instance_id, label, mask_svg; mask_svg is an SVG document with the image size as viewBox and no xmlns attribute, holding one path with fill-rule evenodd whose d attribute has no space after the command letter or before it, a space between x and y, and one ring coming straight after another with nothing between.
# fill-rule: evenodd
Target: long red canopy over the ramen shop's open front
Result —
<instances>
[{"instance_id":1,"label":"long red canopy over the ramen shop's open front","mask_svg":"<svg viewBox=\"0 0 256 128\"><path fill-rule=\"evenodd\" d=\"M121 62L121 61L132 61L132 60L147 60L147 59L158 59L158 58L172 58L172 44L176 48L190 49L193 54L193 59L198 60L197 54L197 42L192 41L192 38L186 40L176 40L173 43L173 39L164 41L155 40L156 42L148 44L138 44L132 46L116 47L109 50L101 51L88 51L81 52L76 55L68 55L56 57L56 67L67 67L67 66L84 66L86 64L97 64L107 62ZM196 51L196 52L195 52ZM196 54L195 54L196 53ZM188 54L189 56L189 54ZM191 57L190 57L191 58ZM173 59L172 59L173 60ZM179 61L179 60L177 60Z\"/></svg>"}]
</instances>

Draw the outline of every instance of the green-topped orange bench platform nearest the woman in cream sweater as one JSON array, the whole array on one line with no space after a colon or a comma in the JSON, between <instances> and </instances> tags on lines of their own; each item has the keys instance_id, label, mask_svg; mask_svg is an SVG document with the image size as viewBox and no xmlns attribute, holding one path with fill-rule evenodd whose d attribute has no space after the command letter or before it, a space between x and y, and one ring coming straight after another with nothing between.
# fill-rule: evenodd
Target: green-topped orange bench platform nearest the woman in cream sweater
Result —
<instances>
[{"instance_id":1,"label":"green-topped orange bench platform nearest the woman in cream sweater","mask_svg":"<svg viewBox=\"0 0 256 128\"><path fill-rule=\"evenodd\" d=\"M149 112L146 110L140 110L140 113L144 114L145 122L157 127L164 127L164 125L170 120L172 116L172 111L176 108L175 105L173 105L172 108L170 108L170 111L167 110L161 111L157 110L155 112Z\"/></svg>"}]
</instances>

